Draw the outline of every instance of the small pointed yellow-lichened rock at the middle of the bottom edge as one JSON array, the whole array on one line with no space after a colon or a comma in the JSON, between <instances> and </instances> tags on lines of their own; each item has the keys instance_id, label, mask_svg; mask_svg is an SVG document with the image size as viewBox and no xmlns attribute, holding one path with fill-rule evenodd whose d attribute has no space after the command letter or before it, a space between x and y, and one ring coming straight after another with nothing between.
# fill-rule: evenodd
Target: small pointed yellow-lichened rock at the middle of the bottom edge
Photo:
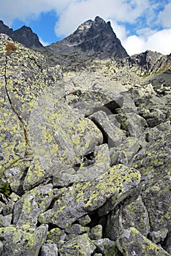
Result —
<instances>
[{"instance_id":1,"label":"small pointed yellow-lichened rock at the middle of the bottom edge","mask_svg":"<svg viewBox=\"0 0 171 256\"><path fill-rule=\"evenodd\" d=\"M77 236L76 238L66 242L58 249L60 255L83 255L91 256L96 249L93 241L88 238L88 234Z\"/></svg>"}]
</instances>

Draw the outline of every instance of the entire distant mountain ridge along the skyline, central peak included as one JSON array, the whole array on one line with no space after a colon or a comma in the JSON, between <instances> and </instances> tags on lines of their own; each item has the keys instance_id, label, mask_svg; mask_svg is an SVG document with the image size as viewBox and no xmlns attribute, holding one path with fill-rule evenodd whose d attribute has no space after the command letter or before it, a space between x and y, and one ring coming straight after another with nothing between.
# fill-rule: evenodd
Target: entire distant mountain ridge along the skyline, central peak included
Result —
<instances>
[{"instance_id":1,"label":"entire distant mountain ridge along the skyline, central peak included","mask_svg":"<svg viewBox=\"0 0 171 256\"><path fill-rule=\"evenodd\" d=\"M50 66L60 64L64 70L83 69L91 66L92 60L117 60L119 69L129 67L139 75L166 72L170 68L170 56L151 50L129 56L116 37L110 21L99 16L86 20L68 37L44 47L31 28L22 26L13 31L0 20L0 33L7 34L14 41L43 53Z\"/></svg>"}]
</instances>

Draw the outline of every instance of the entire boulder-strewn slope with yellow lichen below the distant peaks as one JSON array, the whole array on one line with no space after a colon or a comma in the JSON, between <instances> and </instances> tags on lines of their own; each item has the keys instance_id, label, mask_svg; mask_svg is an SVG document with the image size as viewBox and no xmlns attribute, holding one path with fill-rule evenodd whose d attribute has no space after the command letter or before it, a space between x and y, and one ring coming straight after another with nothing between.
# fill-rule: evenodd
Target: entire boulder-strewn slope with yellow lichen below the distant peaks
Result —
<instances>
[{"instance_id":1,"label":"entire boulder-strewn slope with yellow lichen below the distant peaks","mask_svg":"<svg viewBox=\"0 0 171 256\"><path fill-rule=\"evenodd\" d=\"M0 35L0 255L170 255L170 56L82 52Z\"/></svg>"}]
</instances>

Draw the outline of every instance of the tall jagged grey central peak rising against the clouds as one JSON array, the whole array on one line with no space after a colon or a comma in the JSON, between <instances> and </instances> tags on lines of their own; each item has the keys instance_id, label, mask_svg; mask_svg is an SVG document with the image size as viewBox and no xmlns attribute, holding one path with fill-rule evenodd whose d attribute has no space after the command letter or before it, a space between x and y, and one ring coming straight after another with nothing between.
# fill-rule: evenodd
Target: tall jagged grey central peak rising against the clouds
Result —
<instances>
[{"instance_id":1,"label":"tall jagged grey central peak rising against the clouds","mask_svg":"<svg viewBox=\"0 0 171 256\"><path fill-rule=\"evenodd\" d=\"M79 53L80 50L99 56L101 59L123 59L129 55L121 45L120 40L113 32L110 22L107 23L100 17L87 20L78 26L77 30L61 42L47 47L53 53Z\"/></svg>"}]
</instances>

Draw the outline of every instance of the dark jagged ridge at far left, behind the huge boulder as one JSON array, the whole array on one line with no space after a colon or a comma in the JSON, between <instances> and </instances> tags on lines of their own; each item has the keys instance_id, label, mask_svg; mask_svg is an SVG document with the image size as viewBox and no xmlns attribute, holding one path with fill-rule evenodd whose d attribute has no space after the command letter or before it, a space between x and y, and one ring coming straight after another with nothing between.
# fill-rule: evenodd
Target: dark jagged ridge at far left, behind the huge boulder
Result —
<instances>
[{"instance_id":1,"label":"dark jagged ridge at far left, behind the huge boulder","mask_svg":"<svg viewBox=\"0 0 171 256\"><path fill-rule=\"evenodd\" d=\"M42 48L41 42L37 34L35 34L29 27L22 26L20 29L13 31L9 29L2 20L0 20L0 33L7 34L14 41L20 42L27 48Z\"/></svg>"}]
</instances>

